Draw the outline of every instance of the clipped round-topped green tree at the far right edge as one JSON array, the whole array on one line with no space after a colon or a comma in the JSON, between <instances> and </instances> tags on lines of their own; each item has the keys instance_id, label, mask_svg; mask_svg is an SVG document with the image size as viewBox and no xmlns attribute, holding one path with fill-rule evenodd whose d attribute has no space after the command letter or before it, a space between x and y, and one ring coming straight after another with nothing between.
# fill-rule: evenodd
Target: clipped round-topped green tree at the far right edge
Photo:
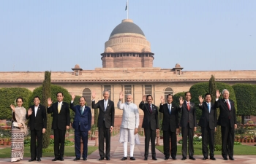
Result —
<instances>
[{"instance_id":1,"label":"clipped round-topped green tree at the far right edge","mask_svg":"<svg viewBox=\"0 0 256 164\"><path fill-rule=\"evenodd\" d=\"M232 87L236 93L237 114L242 116L241 123L244 124L244 116L256 115L256 85L236 84Z\"/></svg>"}]
</instances>

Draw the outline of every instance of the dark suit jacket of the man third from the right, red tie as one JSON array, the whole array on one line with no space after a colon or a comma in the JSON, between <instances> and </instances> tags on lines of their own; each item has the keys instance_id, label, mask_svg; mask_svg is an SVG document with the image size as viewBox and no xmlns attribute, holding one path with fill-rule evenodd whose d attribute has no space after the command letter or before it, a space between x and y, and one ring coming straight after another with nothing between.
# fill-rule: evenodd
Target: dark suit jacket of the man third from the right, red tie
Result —
<instances>
[{"instance_id":1,"label":"dark suit jacket of the man third from the right, red tie","mask_svg":"<svg viewBox=\"0 0 256 164\"><path fill-rule=\"evenodd\" d=\"M187 123L189 123L189 128L195 128L197 126L195 104L190 101L189 106L190 110L187 109L187 101L184 101L184 104L182 104L181 108L179 108L179 111L181 112L180 126L182 128L186 128Z\"/></svg>"}]
</instances>

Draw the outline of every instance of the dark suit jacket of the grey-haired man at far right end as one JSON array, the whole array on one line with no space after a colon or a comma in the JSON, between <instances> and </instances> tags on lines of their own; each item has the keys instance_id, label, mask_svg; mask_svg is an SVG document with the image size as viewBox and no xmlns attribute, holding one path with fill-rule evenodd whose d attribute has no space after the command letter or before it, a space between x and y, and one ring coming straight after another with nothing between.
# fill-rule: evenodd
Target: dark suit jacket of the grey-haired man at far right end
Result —
<instances>
[{"instance_id":1,"label":"dark suit jacket of the grey-haired man at far right end","mask_svg":"<svg viewBox=\"0 0 256 164\"><path fill-rule=\"evenodd\" d=\"M231 128L234 128L234 125L236 124L236 109L234 105L234 101L229 100L231 105L231 110L228 109L227 103L225 99L219 99L218 101L215 101L215 106L219 108L219 119L218 119L218 125L221 126L231 126Z\"/></svg>"}]
</instances>

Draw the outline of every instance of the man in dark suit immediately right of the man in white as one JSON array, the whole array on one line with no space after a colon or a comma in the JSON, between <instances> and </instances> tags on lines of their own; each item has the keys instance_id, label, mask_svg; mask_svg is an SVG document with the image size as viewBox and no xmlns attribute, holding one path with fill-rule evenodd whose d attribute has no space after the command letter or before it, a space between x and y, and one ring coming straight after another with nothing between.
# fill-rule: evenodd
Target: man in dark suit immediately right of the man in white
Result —
<instances>
[{"instance_id":1,"label":"man in dark suit immediately right of the man in white","mask_svg":"<svg viewBox=\"0 0 256 164\"><path fill-rule=\"evenodd\" d=\"M142 123L142 128L144 128L145 133L144 160L148 160L149 141L151 141L152 160L157 160L155 140L157 135L156 130L159 130L159 120L157 106L152 104L152 101L152 95L143 95L142 101L139 105L140 109L144 112Z\"/></svg>"}]
</instances>

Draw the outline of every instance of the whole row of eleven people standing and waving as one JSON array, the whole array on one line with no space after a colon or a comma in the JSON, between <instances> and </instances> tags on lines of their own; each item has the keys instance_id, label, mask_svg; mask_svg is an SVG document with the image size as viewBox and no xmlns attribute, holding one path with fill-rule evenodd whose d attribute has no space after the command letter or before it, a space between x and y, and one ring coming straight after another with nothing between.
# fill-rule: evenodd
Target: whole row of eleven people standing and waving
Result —
<instances>
[{"instance_id":1,"label":"whole row of eleven people standing and waving","mask_svg":"<svg viewBox=\"0 0 256 164\"><path fill-rule=\"evenodd\" d=\"M99 160L110 160L110 133L113 131L115 108L113 101L109 99L109 91L104 90L103 99L95 102L96 94L92 92L91 107L99 109L98 130L99 130ZM229 99L228 90L223 90L223 99L220 99L219 90L217 90L217 99L214 104L211 103L211 94L206 93L205 97L199 96L199 108L202 109L202 116L198 122L202 131L202 149L203 160L216 160L214 157L214 132L217 130L217 125L221 126L222 131L222 157L227 160L233 158L233 143L234 129L236 125L236 109L234 102ZM91 109L86 106L86 98L83 96L79 99L79 105L74 106L75 95L72 95L72 101L67 104L63 101L64 95L59 92L56 94L57 102L53 103L51 98L48 98L48 107L42 106L39 96L34 97L34 105L26 109L23 108L23 98L17 98L18 106L11 105L12 109L12 158L15 162L23 159L23 141L27 135L26 120L29 119L29 130L31 130L31 159L29 162L37 160L41 161L42 157L42 134L45 133L47 125L46 112L52 114L53 123L52 129L54 133L54 158L56 160L64 160L64 141L66 130L69 129L70 114L69 108L75 112L75 119L72 128L75 129L75 159L87 160L88 151L88 134L91 130ZM140 144L138 138L138 126L140 122L138 106L132 103L132 95L127 95L127 101L122 103L124 94L119 94L118 109L123 110L120 138L119 141L124 146L124 157L121 160L127 160L127 144L130 144L130 160L135 160L134 147L135 144ZM179 98L179 106L173 104L173 95L167 95L167 103L165 98L161 97L159 109L152 104L152 95L143 95L139 108L143 110L143 123L145 133L145 153L144 160L148 160L149 142L151 141L152 160L157 160L155 151L156 131L159 130L158 112L163 113L162 130L164 142L165 160L170 157L176 160L177 154L177 137L178 128L181 127L182 134L182 158L187 159L187 145L189 149L189 159L195 160L193 136L197 130L197 120L195 116L195 104L192 103L191 93L185 93L185 100ZM206 101L206 102L204 102ZM219 119L217 120L217 111L220 109ZM181 120L178 121L178 113L181 113ZM37 138L37 139L36 139ZM80 152L80 138L83 141L83 155ZM37 143L36 143L37 140ZM189 141L189 144L187 144ZM171 142L171 152L170 152ZM105 151L104 151L105 143ZM208 155L208 144L210 155Z\"/></svg>"}]
</instances>

